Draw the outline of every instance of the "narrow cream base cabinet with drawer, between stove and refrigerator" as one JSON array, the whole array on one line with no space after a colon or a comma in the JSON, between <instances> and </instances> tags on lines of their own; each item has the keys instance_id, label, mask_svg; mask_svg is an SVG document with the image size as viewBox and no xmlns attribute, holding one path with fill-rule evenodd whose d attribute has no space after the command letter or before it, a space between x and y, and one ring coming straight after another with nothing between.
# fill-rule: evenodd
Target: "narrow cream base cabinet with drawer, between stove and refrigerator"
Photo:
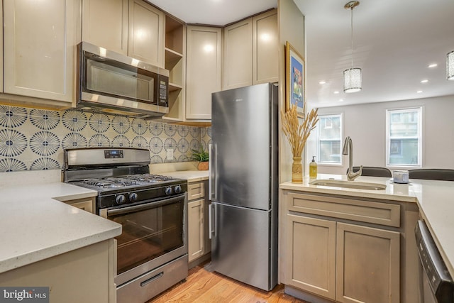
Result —
<instances>
[{"instance_id":1,"label":"narrow cream base cabinet with drawer, between stove and refrigerator","mask_svg":"<svg viewBox=\"0 0 454 303\"><path fill-rule=\"evenodd\" d=\"M206 199L206 181L188 184L188 255L189 263L211 251L208 238L209 202Z\"/></svg>"}]
</instances>

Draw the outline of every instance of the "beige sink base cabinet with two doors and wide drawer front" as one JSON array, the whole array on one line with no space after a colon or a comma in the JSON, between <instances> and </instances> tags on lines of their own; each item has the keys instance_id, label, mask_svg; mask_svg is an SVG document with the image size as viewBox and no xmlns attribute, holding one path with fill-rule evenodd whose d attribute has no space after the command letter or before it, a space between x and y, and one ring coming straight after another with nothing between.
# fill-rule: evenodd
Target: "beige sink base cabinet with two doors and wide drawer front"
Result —
<instances>
[{"instance_id":1,"label":"beige sink base cabinet with two doors and wide drawer front","mask_svg":"<svg viewBox=\"0 0 454 303\"><path fill-rule=\"evenodd\" d=\"M336 302L414 302L411 289L418 282L410 261L417 258L411 238L416 209L300 192L284 191L282 197L281 282L289 294L297 290L302 299L315 294Z\"/></svg>"}]
</instances>

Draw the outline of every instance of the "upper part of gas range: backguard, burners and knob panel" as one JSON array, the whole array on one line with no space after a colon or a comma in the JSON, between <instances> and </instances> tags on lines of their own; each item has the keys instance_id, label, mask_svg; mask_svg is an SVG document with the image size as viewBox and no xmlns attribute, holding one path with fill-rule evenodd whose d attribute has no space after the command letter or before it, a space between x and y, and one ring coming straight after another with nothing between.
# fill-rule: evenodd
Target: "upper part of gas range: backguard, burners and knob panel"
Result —
<instances>
[{"instance_id":1,"label":"upper part of gas range: backguard, burners and knob panel","mask_svg":"<svg viewBox=\"0 0 454 303\"><path fill-rule=\"evenodd\" d=\"M150 152L137 148L65 150L65 182L98 192L96 212L187 192L187 180L150 174Z\"/></svg>"}]
</instances>

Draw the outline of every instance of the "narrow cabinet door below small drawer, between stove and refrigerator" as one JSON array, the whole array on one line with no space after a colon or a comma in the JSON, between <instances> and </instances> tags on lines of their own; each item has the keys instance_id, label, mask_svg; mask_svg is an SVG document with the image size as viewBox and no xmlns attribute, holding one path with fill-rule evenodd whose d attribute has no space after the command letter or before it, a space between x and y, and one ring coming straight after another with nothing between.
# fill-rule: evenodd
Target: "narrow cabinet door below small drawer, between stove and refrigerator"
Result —
<instances>
[{"instance_id":1,"label":"narrow cabinet door below small drawer, between stove and refrigerator","mask_svg":"<svg viewBox=\"0 0 454 303\"><path fill-rule=\"evenodd\" d=\"M204 199L188 204L188 255L189 262L204 254Z\"/></svg>"}]
</instances>

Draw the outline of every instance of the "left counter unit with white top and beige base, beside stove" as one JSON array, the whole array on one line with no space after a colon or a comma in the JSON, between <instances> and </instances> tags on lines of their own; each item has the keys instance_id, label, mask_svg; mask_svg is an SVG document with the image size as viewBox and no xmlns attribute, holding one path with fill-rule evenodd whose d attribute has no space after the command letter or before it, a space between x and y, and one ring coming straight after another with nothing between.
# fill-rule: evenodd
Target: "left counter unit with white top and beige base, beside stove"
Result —
<instances>
[{"instance_id":1,"label":"left counter unit with white top and beige base, beside stove","mask_svg":"<svg viewBox=\"0 0 454 303\"><path fill-rule=\"evenodd\" d=\"M11 186L18 174L0 176L1 287L49 287L52 302L116 302L114 237L121 225L69 205L96 192L52 177Z\"/></svg>"}]
</instances>

